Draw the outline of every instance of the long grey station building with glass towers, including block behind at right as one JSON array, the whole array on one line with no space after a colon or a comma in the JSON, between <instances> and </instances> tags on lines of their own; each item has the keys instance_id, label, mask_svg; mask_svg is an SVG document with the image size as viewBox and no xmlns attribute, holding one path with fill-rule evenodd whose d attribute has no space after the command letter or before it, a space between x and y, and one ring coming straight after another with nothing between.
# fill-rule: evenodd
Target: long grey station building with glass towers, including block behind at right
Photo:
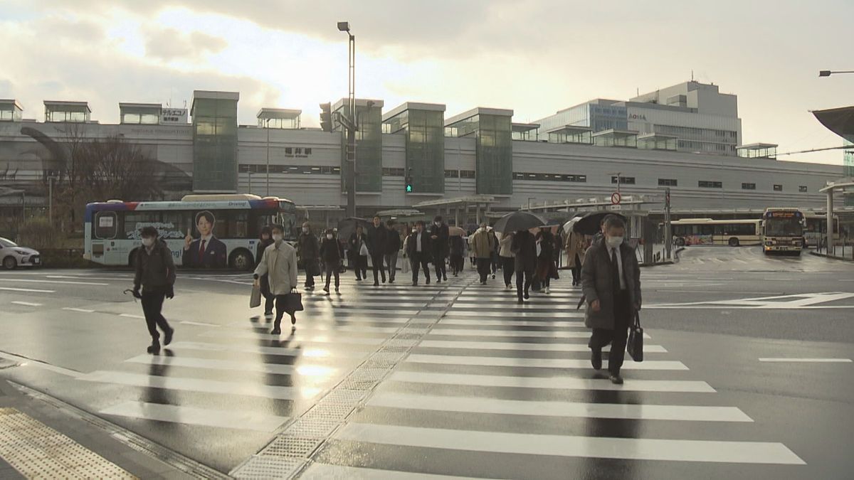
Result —
<instances>
[{"instance_id":1,"label":"long grey station building with glass towers, including block behind at right","mask_svg":"<svg viewBox=\"0 0 854 480\"><path fill-rule=\"evenodd\" d=\"M62 181L69 143L119 136L155 163L164 199L249 192L290 198L313 219L342 218L341 127L302 127L301 111L286 108L261 108L254 125L238 125L239 99L195 91L189 112L122 102L119 124L91 120L87 102L45 101L36 120L20 102L0 100L0 206L44 208L48 179ZM735 97L697 82L628 102L588 102L530 124L514 123L506 108L448 116L442 104L355 103L359 216L442 212L473 222L487 212L558 208L617 190L661 210L664 188L681 210L822 208L819 190L841 173L838 165L776 160L773 144L742 145ZM347 109L347 99L332 106Z\"/></svg>"}]
</instances>

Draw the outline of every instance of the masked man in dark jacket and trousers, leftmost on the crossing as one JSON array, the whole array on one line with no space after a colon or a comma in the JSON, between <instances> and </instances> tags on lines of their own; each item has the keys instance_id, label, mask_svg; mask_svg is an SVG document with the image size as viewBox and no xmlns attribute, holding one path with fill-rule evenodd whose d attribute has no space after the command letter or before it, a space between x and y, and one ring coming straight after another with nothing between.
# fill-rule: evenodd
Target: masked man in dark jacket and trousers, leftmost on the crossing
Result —
<instances>
[{"instance_id":1,"label":"masked man in dark jacket and trousers, leftmost on the crossing","mask_svg":"<svg viewBox=\"0 0 854 480\"><path fill-rule=\"evenodd\" d=\"M157 327L163 331L163 344L172 342L174 330L163 317L164 298L175 296L175 262L172 252L166 243L157 241L157 229L146 226L140 232L143 237L143 247L137 249L136 274L133 277L133 296L143 303L145 323L151 334L151 346L149 354L160 353L160 333ZM139 289L143 291L140 293Z\"/></svg>"}]
</instances>

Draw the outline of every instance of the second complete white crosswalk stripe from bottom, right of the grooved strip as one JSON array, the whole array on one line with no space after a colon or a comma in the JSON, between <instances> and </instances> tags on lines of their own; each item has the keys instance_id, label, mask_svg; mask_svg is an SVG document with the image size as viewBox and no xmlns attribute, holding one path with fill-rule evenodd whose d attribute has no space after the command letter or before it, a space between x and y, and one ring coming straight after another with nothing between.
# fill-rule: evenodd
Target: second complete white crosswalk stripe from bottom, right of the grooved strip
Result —
<instances>
[{"instance_id":1,"label":"second complete white crosswalk stripe from bottom, right of the grooved strip","mask_svg":"<svg viewBox=\"0 0 854 480\"><path fill-rule=\"evenodd\" d=\"M575 401L502 400L484 397L412 395L379 392L368 407L406 408L440 412L494 413L575 417L582 419L678 420L696 422L752 422L737 407L686 405L635 405L627 403L584 403Z\"/></svg>"}]
</instances>

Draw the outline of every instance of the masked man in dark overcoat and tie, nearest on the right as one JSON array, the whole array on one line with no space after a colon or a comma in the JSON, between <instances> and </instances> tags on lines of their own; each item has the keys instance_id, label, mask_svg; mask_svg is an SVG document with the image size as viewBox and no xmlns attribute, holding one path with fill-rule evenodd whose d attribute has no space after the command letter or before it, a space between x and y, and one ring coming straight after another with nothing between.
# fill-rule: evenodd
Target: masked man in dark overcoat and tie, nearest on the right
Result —
<instances>
[{"instance_id":1,"label":"masked man in dark overcoat and tie, nearest on the right","mask_svg":"<svg viewBox=\"0 0 854 480\"><path fill-rule=\"evenodd\" d=\"M602 368L602 348L611 343L608 372L621 384L629 326L640 310L640 267L633 249L623 243L625 223L605 217L604 237L590 245L582 264L582 290L587 299L584 325L593 329L588 346L594 369Z\"/></svg>"}]
</instances>

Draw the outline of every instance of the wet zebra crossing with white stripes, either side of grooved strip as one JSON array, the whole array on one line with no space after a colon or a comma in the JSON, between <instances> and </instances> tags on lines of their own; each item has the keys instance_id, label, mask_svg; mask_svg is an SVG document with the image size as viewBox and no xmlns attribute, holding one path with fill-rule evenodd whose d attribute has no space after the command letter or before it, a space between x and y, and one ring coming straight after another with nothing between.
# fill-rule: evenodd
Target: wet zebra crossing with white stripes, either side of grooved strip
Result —
<instances>
[{"instance_id":1,"label":"wet zebra crossing with white stripes, either side of grooved strip","mask_svg":"<svg viewBox=\"0 0 854 480\"><path fill-rule=\"evenodd\" d=\"M290 334L272 336L247 310L246 320L181 337L168 354L132 354L76 381L102 389L97 413L132 427L245 432L260 448L325 395L347 393L350 372L412 329L422 332L412 348L376 367L387 369L383 381L284 477L566 478L594 467L624 477L603 460L642 462L648 477L693 462L705 469L697 477L720 477L715 465L804 464L786 445L753 437L753 419L654 331L645 361L627 355L623 385L594 372L580 291L565 280L518 305L500 280L481 286L468 272L418 287L404 279L374 289L342 278L345 295L304 295Z\"/></svg>"}]
</instances>

